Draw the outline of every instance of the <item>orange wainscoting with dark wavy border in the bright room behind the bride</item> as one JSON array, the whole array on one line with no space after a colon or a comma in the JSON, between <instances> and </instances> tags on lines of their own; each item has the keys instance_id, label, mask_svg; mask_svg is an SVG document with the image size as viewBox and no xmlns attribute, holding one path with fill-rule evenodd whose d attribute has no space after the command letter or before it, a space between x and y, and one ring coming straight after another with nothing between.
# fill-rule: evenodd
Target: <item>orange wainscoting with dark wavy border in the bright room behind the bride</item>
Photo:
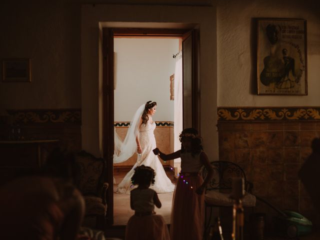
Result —
<instances>
[{"instance_id":1,"label":"orange wainscoting with dark wavy border in the bright room behind the bride","mask_svg":"<svg viewBox=\"0 0 320 240\"><path fill-rule=\"evenodd\" d=\"M156 121L156 127L154 130L154 136L156 146L164 153L170 153L173 151L173 122L172 121ZM123 140L129 127L129 122L114 122L115 131L119 137ZM136 162L137 155L133 154L128 160L114 164L115 168L132 167ZM172 166L173 160L163 162L162 165Z\"/></svg>"}]
</instances>

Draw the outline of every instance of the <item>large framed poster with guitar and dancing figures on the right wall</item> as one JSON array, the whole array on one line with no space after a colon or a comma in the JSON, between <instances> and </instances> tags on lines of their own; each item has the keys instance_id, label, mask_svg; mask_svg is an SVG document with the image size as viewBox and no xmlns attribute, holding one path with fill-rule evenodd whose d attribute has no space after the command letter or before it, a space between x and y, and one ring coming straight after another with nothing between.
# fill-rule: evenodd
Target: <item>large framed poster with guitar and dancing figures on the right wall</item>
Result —
<instances>
[{"instance_id":1,"label":"large framed poster with guitar and dancing figures on the right wall","mask_svg":"<svg viewBox=\"0 0 320 240\"><path fill-rule=\"evenodd\" d=\"M307 95L306 20L257 18L258 95Z\"/></svg>"}]
</instances>

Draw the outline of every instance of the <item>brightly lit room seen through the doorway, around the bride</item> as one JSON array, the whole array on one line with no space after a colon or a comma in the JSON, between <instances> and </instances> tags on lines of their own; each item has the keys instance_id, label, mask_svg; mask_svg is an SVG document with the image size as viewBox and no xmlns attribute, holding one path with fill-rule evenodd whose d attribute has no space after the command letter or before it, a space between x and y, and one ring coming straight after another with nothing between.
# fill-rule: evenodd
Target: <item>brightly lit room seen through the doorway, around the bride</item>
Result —
<instances>
[{"instance_id":1,"label":"brightly lit room seen through the doorway, around the bride","mask_svg":"<svg viewBox=\"0 0 320 240\"><path fill-rule=\"evenodd\" d=\"M180 148L176 132L182 130L181 43L181 37L114 37L115 139L119 137L124 140L129 121L136 109L146 101L152 100L157 105L156 113L152 116L156 124L154 129L156 146L165 153ZM166 176L175 183L179 171L179 159L159 161L165 169ZM118 183L136 162L137 154L133 154L123 162L113 163L114 189L117 189ZM154 168L154 170L159 174L157 173L159 169ZM133 210L130 209L129 194L123 194L123 190L129 193L130 189L122 187L120 190L122 193L113 194L114 225L125 225L133 214ZM169 189L168 192L158 191L162 207L156 211L164 217L167 224L170 223L172 195L173 191Z\"/></svg>"}]
</instances>

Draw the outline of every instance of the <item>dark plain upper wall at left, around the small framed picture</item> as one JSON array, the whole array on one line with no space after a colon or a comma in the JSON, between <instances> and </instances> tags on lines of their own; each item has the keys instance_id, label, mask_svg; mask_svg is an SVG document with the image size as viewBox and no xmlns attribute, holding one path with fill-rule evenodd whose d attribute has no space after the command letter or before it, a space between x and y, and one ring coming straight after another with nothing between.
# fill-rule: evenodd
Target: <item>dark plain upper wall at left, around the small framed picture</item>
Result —
<instances>
[{"instance_id":1,"label":"dark plain upper wall at left, around the small framed picture","mask_svg":"<svg viewBox=\"0 0 320 240\"><path fill-rule=\"evenodd\" d=\"M0 59L30 58L32 79L0 81L0 111L81 107L80 5L1 3L0 19Z\"/></svg>"}]
</instances>

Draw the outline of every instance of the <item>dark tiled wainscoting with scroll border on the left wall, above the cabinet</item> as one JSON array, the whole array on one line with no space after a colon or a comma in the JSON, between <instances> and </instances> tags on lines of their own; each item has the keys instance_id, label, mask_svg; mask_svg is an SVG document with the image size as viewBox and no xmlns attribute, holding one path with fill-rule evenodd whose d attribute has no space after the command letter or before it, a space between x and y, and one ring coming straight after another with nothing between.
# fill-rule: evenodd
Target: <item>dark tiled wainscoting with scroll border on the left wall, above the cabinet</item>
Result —
<instances>
[{"instance_id":1,"label":"dark tiled wainscoting with scroll border on the left wall, above the cabinet","mask_svg":"<svg viewBox=\"0 0 320 240\"><path fill-rule=\"evenodd\" d=\"M12 127L1 129L1 139L59 139L62 147L81 150L81 109L23 109L7 112ZM19 129L19 133L17 130Z\"/></svg>"}]
</instances>

